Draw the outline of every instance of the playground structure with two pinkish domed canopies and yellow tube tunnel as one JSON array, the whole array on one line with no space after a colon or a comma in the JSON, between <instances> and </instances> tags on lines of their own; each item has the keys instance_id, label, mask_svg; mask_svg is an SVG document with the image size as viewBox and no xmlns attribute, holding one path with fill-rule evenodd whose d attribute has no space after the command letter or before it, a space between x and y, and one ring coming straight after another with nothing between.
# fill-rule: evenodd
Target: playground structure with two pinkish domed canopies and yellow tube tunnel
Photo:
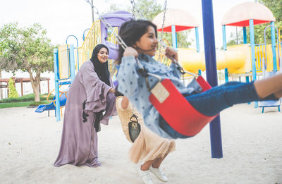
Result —
<instances>
[{"instance_id":1,"label":"playground structure with two pinkish domed canopies and yellow tube tunnel","mask_svg":"<svg viewBox=\"0 0 282 184\"><path fill-rule=\"evenodd\" d=\"M153 20L161 31L161 19L164 13L159 13ZM178 59L185 70L192 73L200 73L206 70L204 63L204 52L200 52L199 33L197 20L188 12L182 10L168 9L166 12L167 21L164 24L164 32L171 32L173 48L178 50ZM222 18L223 50L216 51L217 70L225 70L226 82L228 74L239 74L246 76L247 81L252 76L254 80L257 74L262 75L263 61L266 63L266 72L280 70L281 61L281 38L275 39L275 18L269 8L258 3L244 3L233 6ZM271 23L271 44L247 44L246 26L250 25L250 37L254 37L253 25ZM226 47L226 25L243 27L244 44ZM177 48L176 32L195 28L196 49ZM279 32L280 33L280 30ZM280 36L280 35L279 35ZM277 34L278 38L278 34ZM280 62L281 63L281 62ZM254 73L252 71L255 71Z\"/></svg>"}]
</instances>

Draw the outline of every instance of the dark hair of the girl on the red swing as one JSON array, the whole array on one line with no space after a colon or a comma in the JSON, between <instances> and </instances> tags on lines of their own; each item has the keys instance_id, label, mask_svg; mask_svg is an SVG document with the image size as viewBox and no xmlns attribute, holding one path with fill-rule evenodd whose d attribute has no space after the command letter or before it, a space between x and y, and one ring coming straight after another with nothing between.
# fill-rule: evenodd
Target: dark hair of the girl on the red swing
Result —
<instances>
[{"instance_id":1,"label":"dark hair of the girl on the red swing","mask_svg":"<svg viewBox=\"0 0 282 184\"><path fill-rule=\"evenodd\" d=\"M123 39L128 47L133 47L135 42L137 42L142 37L142 35L147 32L149 26L154 27L154 31L157 37L157 26L149 20L128 20L123 23L123 25L121 25L118 35L121 37L121 39ZM121 63L123 52L124 49L121 47L121 45L119 45L118 59L116 59L116 64L118 65Z\"/></svg>"}]
</instances>

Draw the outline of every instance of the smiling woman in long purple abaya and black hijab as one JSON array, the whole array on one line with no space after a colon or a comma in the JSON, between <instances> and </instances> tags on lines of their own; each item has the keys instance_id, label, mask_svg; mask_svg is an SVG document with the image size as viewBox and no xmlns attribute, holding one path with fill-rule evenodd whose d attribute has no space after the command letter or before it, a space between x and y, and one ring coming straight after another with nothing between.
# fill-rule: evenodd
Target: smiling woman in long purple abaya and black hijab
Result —
<instances>
[{"instance_id":1,"label":"smiling woman in long purple abaya and black hijab","mask_svg":"<svg viewBox=\"0 0 282 184\"><path fill-rule=\"evenodd\" d=\"M114 84L108 69L109 49L98 44L68 91L61 147L54 166L100 166L97 132L116 115Z\"/></svg>"}]
</instances>

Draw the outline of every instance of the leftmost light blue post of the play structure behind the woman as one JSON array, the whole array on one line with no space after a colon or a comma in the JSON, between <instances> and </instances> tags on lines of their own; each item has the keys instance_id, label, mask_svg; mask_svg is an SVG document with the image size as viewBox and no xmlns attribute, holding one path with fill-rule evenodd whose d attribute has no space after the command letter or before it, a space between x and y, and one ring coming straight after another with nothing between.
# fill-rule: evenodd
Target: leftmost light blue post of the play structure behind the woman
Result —
<instances>
[{"instance_id":1,"label":"leftmost light blue post of the play structure behind the woman","mask_svg":"<svg viewBox=\"0 0 282 184\"><path fill-rule=\"evenodd\" d=\"M61 121L60 115L60 95L59 95L59 59L58 59L58 49L54 49L54 74L55 74L55 114L56 114L56 121Z\"/></svg>"}]
</instances>

